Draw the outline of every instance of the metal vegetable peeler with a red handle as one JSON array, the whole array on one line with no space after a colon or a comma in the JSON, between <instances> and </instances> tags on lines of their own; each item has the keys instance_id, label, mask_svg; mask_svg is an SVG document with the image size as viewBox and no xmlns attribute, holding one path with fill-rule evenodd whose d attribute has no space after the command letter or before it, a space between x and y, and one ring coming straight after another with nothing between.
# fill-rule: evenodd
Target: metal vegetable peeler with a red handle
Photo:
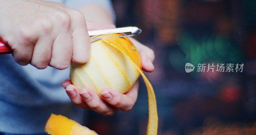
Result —
<instances>
[{"instance_id":1,"label":"metal vegetable peeler with a red handle","mask_svg":"<svg viewBox=\"0 0 256 135\"><path fill-rule=\"evenodd\" d=\"M139 35L140 32L141 32L141 29L139 29L137 27L123 27L123 28L113 28L113 29L88 31L89 36L92 36L91 41L100 40L101 38L94 38L97 35L114 34L114 33L127 33L127 35L118 36L118 37L127 37L127 36ZM1 37L0 37L0 54L12 54L11 47L8 46L8 44L4 43L4 41Z\"/></svg>"}]
</instances>

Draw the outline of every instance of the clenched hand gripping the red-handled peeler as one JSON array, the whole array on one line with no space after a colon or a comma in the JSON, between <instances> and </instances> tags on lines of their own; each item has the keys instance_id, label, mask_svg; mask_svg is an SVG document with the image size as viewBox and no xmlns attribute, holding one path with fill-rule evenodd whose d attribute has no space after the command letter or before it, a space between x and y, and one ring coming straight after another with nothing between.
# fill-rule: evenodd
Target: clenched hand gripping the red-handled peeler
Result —
<instances>
[{"instance_id":1,"label":"clenched hand gripping the red-handled peeler","mask_svg":"<svg viewBox=\"0 0 256 135\"><path fill-rule=\"evenodd\" d=\"M0 3L0 37L12 48L13 58L20 65L66 69L70 62L89 60L91 41L82 12L41 0Z\"/></svg>"}]
</instances>

